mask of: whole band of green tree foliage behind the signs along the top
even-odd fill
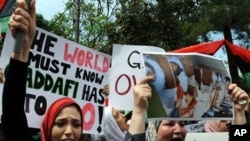
[[[109,54],[115,43],[174,50],[197,44],[198,36],[208,41],[211,30],[249,32],[249,6],[249,0],[69,0],[45,29],[76,41],[79,21],[79,43]]]

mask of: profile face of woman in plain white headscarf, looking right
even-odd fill
[[[112,115],[117,123],[117,125],[119,126],[119,128],[121,129],[121,131],[127,131],[129,128],[129,125],[126,122],[126,117],[124,114],[120,113],[117,109],[112,108]]]

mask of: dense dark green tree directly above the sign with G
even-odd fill
[[[153,45],[173,50],[182,45],[183,32],[178,17],[178,2],[119,0],[116,21],[108,29],[109,42]]]

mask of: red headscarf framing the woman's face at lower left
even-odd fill
[[[51,128],[54,124],[54,121],[58,115],[58,113],[65,107],[75,105],[77,109],[81,112],[81,108],[79,105],[69,97],[63,97],[51,104],[49,109],[47,110],[42,125],[41,125],[41,141],[49,141],[51,137]],[[81,114],[81,122],[83,123],[83,117]],[[81,126],[83,127],[83,126]]]

